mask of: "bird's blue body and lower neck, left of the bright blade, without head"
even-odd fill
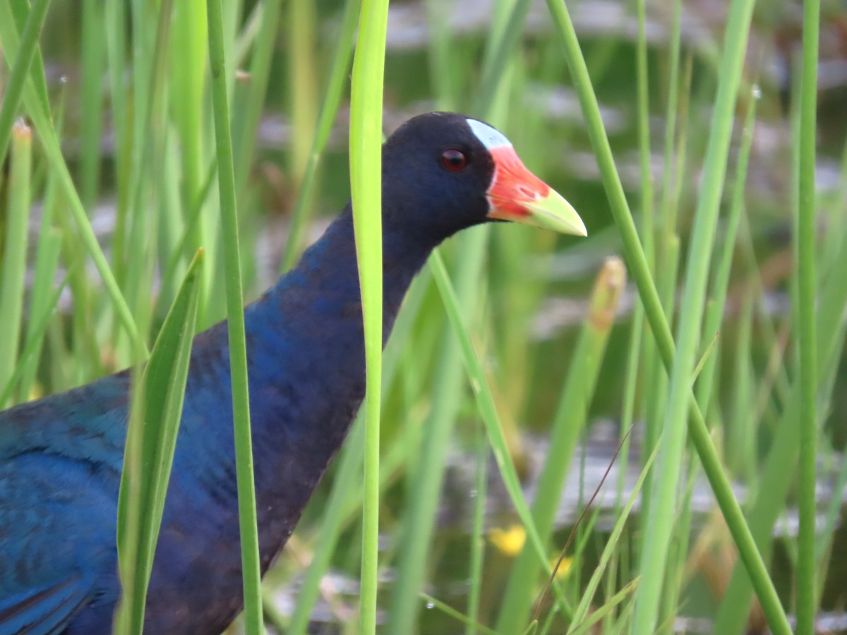
[[[364,390],[349,218],[246,309],[263,571],[291,535]],[[335,237],[340,245],[328,248]],[[312,262],[312,264],[309,264]],[[399,301],[392,306],[399,306]],[[199,334],[147,594],[145,632],[221,632],[241,610],[226,323]],[[119,599],[116,517],[130,374],[0,412],[0,635],[97,635]],[[29,627],[30,630],[25,630]]]

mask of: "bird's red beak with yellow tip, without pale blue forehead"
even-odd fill
[[[571,204],[550,185],[532,174],[512,146],[490,149],[494,179],[485,192],[488,218],[553,229],[562,234],[587,236],[588,231]]]

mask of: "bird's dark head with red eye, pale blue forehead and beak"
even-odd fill
[[[587,235],[570,203],[479,119],[457,113],[409,119],[385,142],[382,169],[384,223],[431,235],[436,243],[491,220]]]

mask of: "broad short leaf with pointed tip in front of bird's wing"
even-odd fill
[[[197,252],[136,384],[118,498],[118,554],[124,596],[117,632],[141,633],[147,585],[162,524],[197,321],[203,254]]]

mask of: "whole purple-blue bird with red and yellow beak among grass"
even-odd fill
[[[490,124],[409,119],[382,147],[384,334],[430,252],[517,221],[586,235]],[[244,311],[262,573],[363,400],[352,204]],[[385,344],[385,342],[384,342]],[[0,412],[0,635],[98,635],[120,597],[116,518],[130,373]],[[195,336],[144,632],[215,635],[242,607],[226,323]]]

